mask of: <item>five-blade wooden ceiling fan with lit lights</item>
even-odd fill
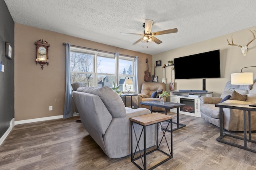
[[[122,34],[122,35],[143,35],[142,38],[138,39],[138,41],[136,41],[133,44],[137,44],[140,41],[142,43],[155,42],[157,44],[160,44],[160,43],[162,43],[162,41],[157,39],[154,36],[178,32],[177,28],[173,28],[173,29],[167,29],[167,30],[151,33],[152,25],[153,25],[153,20],[145,20],[145,23],[142,24],[142,26],[145,28],[144,34],[137,34],[137,33],[120,33],[120,34]]]

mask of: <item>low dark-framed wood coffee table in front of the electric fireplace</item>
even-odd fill
[[[174,124],[177,124],[177,127],[172,129],[172,131],[176,131],[176,130],[186,126],[186,125],[180,123],[180,113],[179,113],[179,107],[186,106],[186,104],[172,103],[172,102],[164,102],[164,104],[161,104],[160,101],[158,101],[158,100],[140,102],[140,104],[150,106],[151,113],[152,113],[152,106],[164,108],[164,114],[167,114],[167,109],[170,110],[173,108],[177,108],[177,122],[172,122]]]

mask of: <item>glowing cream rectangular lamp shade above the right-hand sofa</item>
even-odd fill
[[[231,84],[253,84],[253,72],[232,73]]]

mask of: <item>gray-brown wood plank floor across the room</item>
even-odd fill
[[[168,114],[175,121],[176,114]],[[78,118],[15,125],[0,146],[0,170],[138,169],[130,156],[102,153],[82,123],[75,123]],[[216,141],[218,127],[188,115],[180,115],[180,123],[187,126],[173,133],[173,158],[156,170],[256,169],[256,153]]]

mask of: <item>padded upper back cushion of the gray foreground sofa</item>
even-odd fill
[[[112,88],[104,87],[79,87],[78,92],[95,94],[100,97],[113,118],[125,117],[126,109],[122,98]]]

